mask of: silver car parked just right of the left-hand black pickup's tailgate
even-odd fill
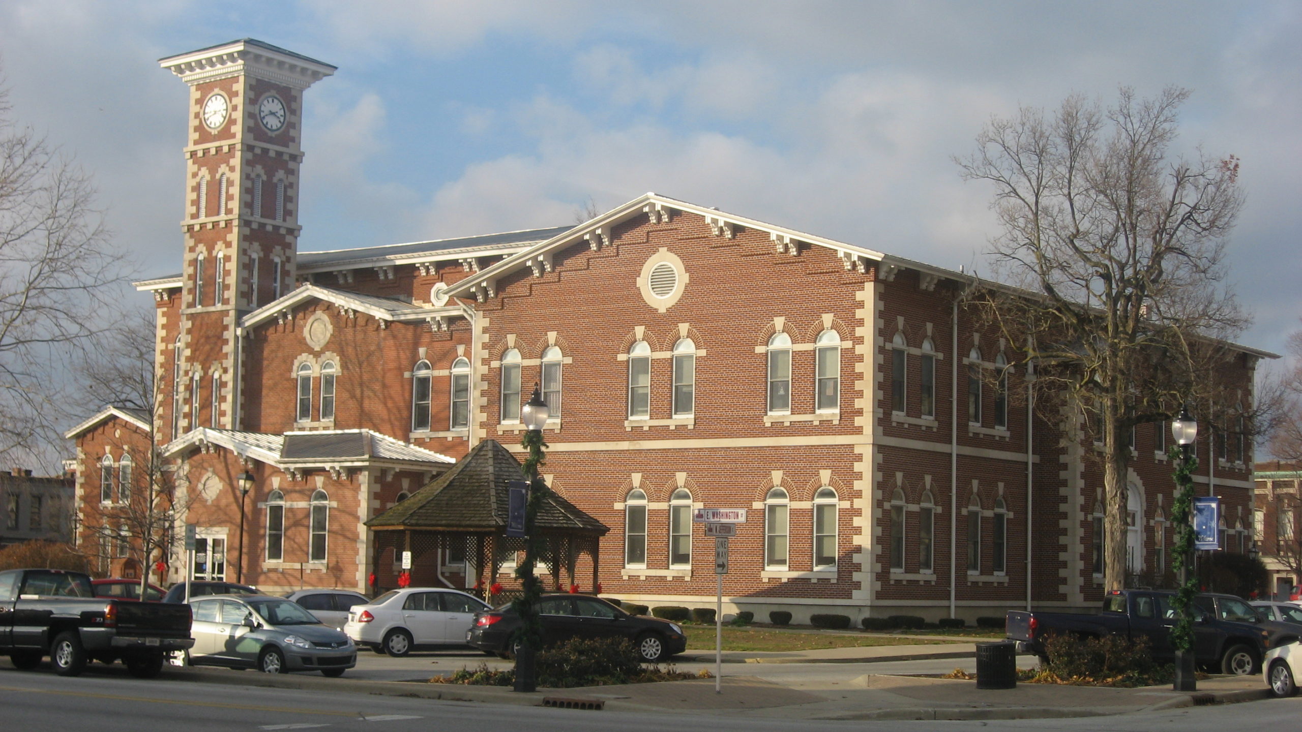
[[[270,595],[204,595],[194,610],[193,666],[256,668],[267,673],[320,671],[342,676],[357,666],[357,646],[311,612]]]

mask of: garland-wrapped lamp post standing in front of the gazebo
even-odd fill
[[[525,425],[525,436],[521,444],[529,449],[525,458],[525,475],[529,478],[529,500],[525,503],[525,563],[516,568],[516,577],[523,586],[523,594],[512,603],[519,615],[518,646],[516,650],[516,686],[517,692],[538,690],[538,673],[534,668],[534,655],[543,641],[543,626],[538,619],[538,600],[543,591],[534,576],[534,561],[538,559],[534,524],[538,520],[538,508],[542,504],[547,486],[538,477],[538,468],[543,464],[543,427],[547,426],[547,417],[551,409],[543,401],[542,391],[534,384],[534,393],[519,409],[519,421]]]

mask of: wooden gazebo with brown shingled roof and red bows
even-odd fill
[[[496,440],[480,442],[450,470],[366,522],[375,535],[371,567],[376,577],[381,576],[380,563],[388,550],[395,557],[410,551],[417,584],[426,578],[432,580],[430,584],[456,584],[443,574],[443,565],[449,555],[460,555],[464,587],[487,599],[503,565],[514,564],[525,551],[523,538],[506,535],[506,509],[508,483],[526,479],[510,451]],[[535,531],[540,539],[538,561],[547,567],[555,586],[561,586],[562,569],[566,585],[575,584],[575,567],[586,554],[592,561],[591,591],[596,590],[600,539],[609,531],[604,524],[548,491]],[[430,552],[437,552],[434,561],[428,560]],[[419,577],[422,573],[427,577]]]

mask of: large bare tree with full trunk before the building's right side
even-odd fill
[[[1022,108],[991,120],[976,151],[956,159],[965,180],[993,185],[1003,232],[991,254],[1023,288],[983,288],[974,301],[1035,362],[1038,391],[1087,417],[1101,443],[1108,590],[1126,577],[1133,427],[1185,402],[1208,417],[1225,388],[1220,339],[1247,320],[1224,287],[1238,160],[1172,154],[1187,96],[1121,89],[1107,109],[1079,95],[1052,116]]]

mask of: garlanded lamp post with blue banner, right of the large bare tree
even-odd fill
[[[1178,613],[1176,625],[1170,629],[1170,645],[1176,649],[1176,681],[1173,689],[1177,692],[1198,690],[1198,681],[1194,677],[1194,624],[1190,607],[1194,602],[1197,577],[1191,577],[1189,568],[1194,560],[1194,528],[1191,511],[1194,504],[1194,479],[1191,473],[1198,468],[1198,458],[1189,455],[1190,445],[1198,439],[1198,422],[1189,415],[1189,409],[1181,409],[1180,417],[1170,423],[1170,434],[1180,445],[1178,461],[1176,462],[1176,500],[1172,501],[1172,518],[1176,522],[1176,574],[1180,578],[1180,587],[1172,602],[1172,607]]]

